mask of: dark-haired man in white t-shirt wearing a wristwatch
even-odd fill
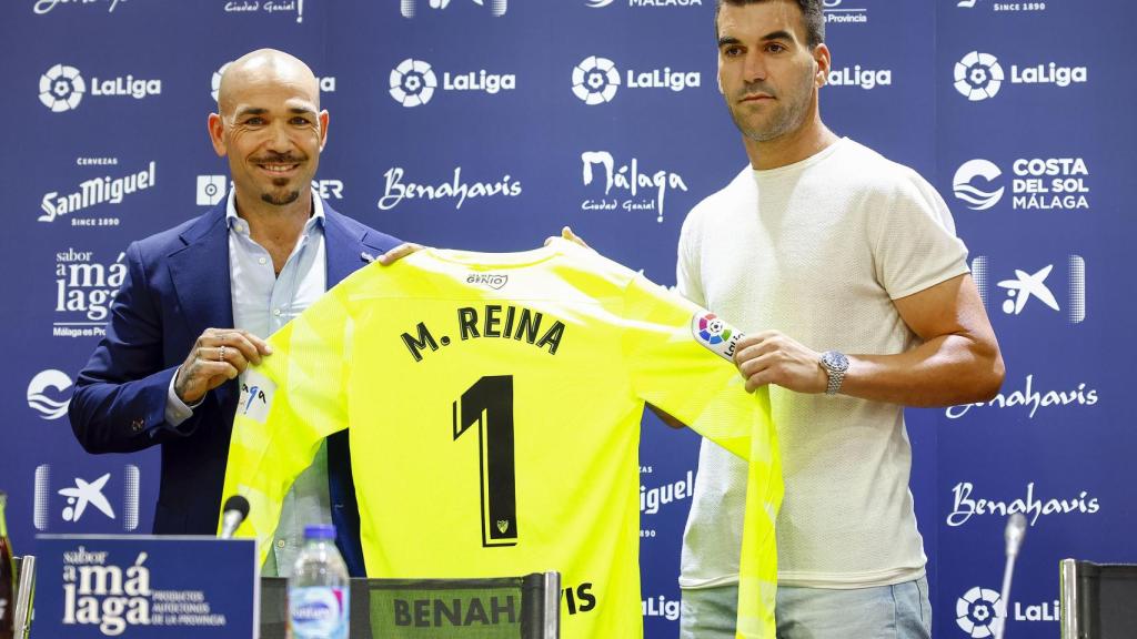
[[[984,401],[1003,360],[944,200],[821,122],[821,0],[720,0],[719,84],[750,165],[683,224],[680,290],[746,331],[786,498],[778,637],[929,637],[904,406]],[[682,636],[735,636],[745,462],[704,440]]]

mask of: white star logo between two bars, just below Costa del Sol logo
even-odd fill
[[[990,259],[986,256],[978,256],[971,262],[971,271],[976,279],[976,288],[979,289],[979,297],[984,300],[984,306],[990,308],[988,298],[990,282]],[[1062,304],[1054,294],[1052,287],[1047,284],[1047,279],[1054,271],[1054,264],[1047,264],[1036,271],[1014,269],[1014,277],[999,280],[996,287],[1005,292],[999,308],[1005,315],[1018,317],[1027,309],[1046,307],[1053,312],[1062,313]],[[1080,324],[1086,318],[1086,260],[1079,255],[1070,255],[1067,259],[1065,280],[1065,315],[1071,324]],[[1060,289],[1061,291],[1061,289]],[[1037,300],[1034,304],[1031,300]]]

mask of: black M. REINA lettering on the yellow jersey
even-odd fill
[[[456,318],[457,335],[462,341],[478,338],[514,339],[548,349],[549,355],[557,354],[565,333],[565,325],[559,320],[550,320],[541,313],[520,306],[488,304],[480,309],[464,306],[457,309]],[[417,335],[402,333],[402,343],[415,362],[422,362],[428,348],[435,351],[439,345],[450,346],[454,341],[450,338],[454,333],[435,338],[423,322],[415,326],[415,331]]]

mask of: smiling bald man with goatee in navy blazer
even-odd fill
[[[107,335],[80,373],[68,416],[89,453],[161,446],[156,534],[214,534],[238,375],[265,338],[397,240],[312,192],[327,111],[312,69],[269,49],[229,66],[208,119],[233,189],[225,202],[126,249]],[[252,396],[250,401],[256,401]],[[287,575],[305,524],[334,523],[363,575],[347,433],[293,487],[266,574]]]

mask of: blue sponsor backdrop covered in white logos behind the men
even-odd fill
[[[1010,508],[1031,526],[1009,632],[1055,637],[1060,558],[1137,558],[1135,349],[1110,339],[1132,323],[1137,132],[1132,74],[1107,53],[1137,8],[825,5],[825,121],[940,189],[1007,363],[996,401],[908,413],[936,633],[989,634]],[[155,451],[86,456],[59,415],[126,244],[224,193],[205,127],[222,65],[258,47],[310,64],[331,111],[317,188],[367,224],[481,250],[570,224],[670,284],[687,210],[746,161],[712,14],[712,0],[5,2],[0,488],[17,551],[39,531],[149,530]],[[648,421],[642,598],[647,636],[664,638],[697,440]]]

